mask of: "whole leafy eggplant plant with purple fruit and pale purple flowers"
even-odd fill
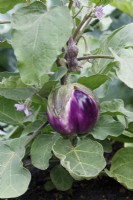
[[[109,30],[109,4],[131,23]],[[0,0],[0,48],[14,55],[0,72],[1,199],[27,191],[31,167],[47,170],[46,190],[101,175],[133,190],[132,9],[131,0]]]

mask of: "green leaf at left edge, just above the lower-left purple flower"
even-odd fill
[[[2,73],[3,74],[3,73]],[[9,73],[10,74],[10,73]],[[0,82],[0,95],[13,100],[25,100],[35,93],[33,88],[22,83],[19,76],[3,78]]]

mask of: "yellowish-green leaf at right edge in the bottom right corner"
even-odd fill
[[[133,190],[133,148],[119,150],[112,159],[112,166],[108,172],[126,188]]]

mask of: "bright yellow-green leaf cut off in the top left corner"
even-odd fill
[[[25,3],[25,0],[0,0],[0,13],[5,13],[18,3]]]

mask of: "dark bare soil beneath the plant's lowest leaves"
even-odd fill
[[[121,144],[113,146],[114,154]],[[110,158],[106,156],[109,161]],[[111,156],[112,157],[112,156]],[[133,200],[133,191],[129,191],[117,181],[109,177],[98,177],[89,181],[74,182],[71,190],[61,192],[45,191],[44,184],[47,179],[45,171],[31,168],[32,181],[28,191],[21,197],[11,200]]]

